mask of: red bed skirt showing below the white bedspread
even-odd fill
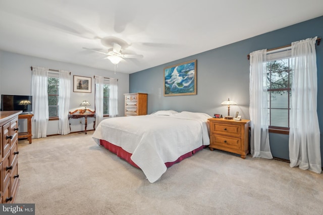
[[[126,152],[125,150],[123,150],[121,147],[118,147],[116,145],[111,144],[110,142],[100,139],[100,145],[102,145],[105,149],[109,150],[112,153],[115,153],[118,157],[126,160],[129,164],[131,164],[134,167],[139,168],[132,160],[131,160],[131,153]],[[198,151],[202,150],[204,147],[206,146],[200,146],[199,148],[193,150],[192,152],[186,153],[185,155],[182,155],[181,157],[179,157],[176,161],[174,162],[167,162],[165,163],[166,167],[171,167],[173,164],[176,164],[182,160],[184,160],[185,158],[189,158],[192,155],[194,155],[195,153],[197,153]],[[140,169],[140,168],[139,168]]]

